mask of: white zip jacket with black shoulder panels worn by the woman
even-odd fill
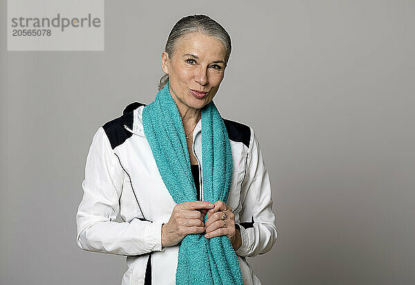
[[[76,241],[84,250],[127,256],[122,285],[175,284],[178,244],[162,248],[161,225],[169,221],[176,203],[144,134],[144,106],[129,104],[122,116],[95,132],[76,214]],[[243,284],[261,284],[246,257],[268,252],[277,239],[270,179],[252,128],[223,120],[234,166],[227,204],[241,229],[242,245],[236,253]],[[201,120],[194,128],[193,152],[203,173]],[[123,222],[114,222],[118,213]]]

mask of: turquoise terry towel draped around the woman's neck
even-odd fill
[[[206,202],[228,201],[232,153],[223,119],[213,101],[203,106],[202,170]],[[195,201],[185,130],[169,83],[142,110],[142,124],[158,171],[177,204]],[[154,205],[156,206],[156,205]],[[207,218],[205,217],[205,222]],[[226,235],[187,235],[178,249],[176,284],[242,284],[241,268]]]

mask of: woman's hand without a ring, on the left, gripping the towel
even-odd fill
[[[174,206],[169,222],[161,226],[161,245],[173,246],[190,233],[204,233],[203,215],[212,208],[213,203],[201,201],[183,202]]]

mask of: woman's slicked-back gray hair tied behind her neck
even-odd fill
[[[232,50],[230,36],[218,22],[204,14],[194,14],[183,17],[174,25],[170,31],[169,37],[167,38],[165,46],[165,52],[169,55],[169,59],[172,59],[178,39],[189,34],[190,32],[202,32],[205,35],[221,40],[225,46],[225,63],[228,63],[230,52]],[[158,83],[158,90],[163,89],[168,81],[169,75],[163,75]]]

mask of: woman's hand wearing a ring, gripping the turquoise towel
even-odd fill
[[[222,219],[223,213],[225,213],[225,219]],[[223,201],[216,201],[214,202],[214,208],[208,210],[206,217],[208,217],[205,224],[206,238],[210,239],[219,235],[227,235],[234,250],[241,246],[241,233],[239,229],[235,229],[235,215],[232,213],[230,206]]]

